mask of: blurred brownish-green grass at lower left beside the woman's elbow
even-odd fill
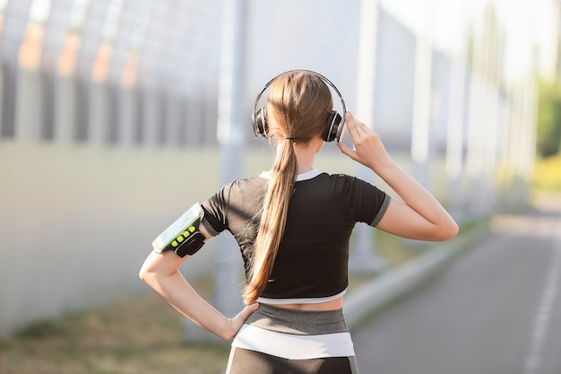
[[[0,342],[2,374],[218,374],[229,343],[186,343],[182,317],[154,292],[26,326]]]

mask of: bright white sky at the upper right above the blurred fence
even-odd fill
[[[539,68],[550,53],[551,4],[559,0],[379,0],[384,9],[410,30],[432,35],[436,48],[451,52],[464,47],[470,22],[479,29],[485,5],[494,3],[506,33],[505,75],[527,74],[531,69],[534,45],[539,45]],[[426,17],[424,19],[424,17]]]

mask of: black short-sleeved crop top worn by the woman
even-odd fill
[[[268,176],[235,180],[202,204],[203,225],[211,235],[229,230],[236,238],[246,275]],[[299,175],[262,297],[325,298],[345,291],[351,230],[356,222],[375,226],[389,202],[384,191],[358,178],[318,170]]]

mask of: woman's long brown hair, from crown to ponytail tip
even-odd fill
[[[332,95],[327,84],[316,74],[292,71],[281,74],[271,84],[266,114],[269,135],[277,145],[272,178],[263,199],[263,213],[243,299],[257,300],[272,273],[289,210],[290,196],[298,173],[294,146],[307,144],[322,135],[332,109]]]

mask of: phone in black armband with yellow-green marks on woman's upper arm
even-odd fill
[[[204,244],[204,235],[199,230],[203,215],[201,204],[194,204],[152,241],[154,251],[162,253],[172,250],[179,257],[194,255]]]

